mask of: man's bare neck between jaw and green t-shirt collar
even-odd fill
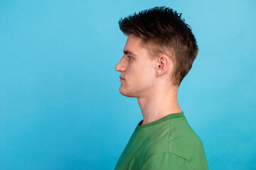
[[[138,97],[139,107],[144,118],[142,125],[159,120],[171,113],[180,113],[177,92],[178,89],[169,88],[154,91],[149,96]]]

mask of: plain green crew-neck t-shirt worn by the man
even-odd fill
[[[139,122],[115,170],[206,170],[203,143],[183,112],[151,123]]]

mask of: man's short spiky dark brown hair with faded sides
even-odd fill
[[[196,38],[181,13],[156,6],[121,18],[119,28],[125,35],[142,38],[152,58],[161,53],[168,55],[174,62],[173,84],[181,84],[198,54]]]

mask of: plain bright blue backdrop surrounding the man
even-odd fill
[[[170,6],[199,46],[178,90],[209,169],[256,169],[255,1],[0,1],[0,169],[114,169],[142,120],[119,18]]]

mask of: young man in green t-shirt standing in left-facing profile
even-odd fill
[[[208,169],[203,144],[178,106],[177,91],[198,53],[191,28],[165,6],[120,19],[127,35],[119,92],[136,97],[143,120],[115,169]]]

